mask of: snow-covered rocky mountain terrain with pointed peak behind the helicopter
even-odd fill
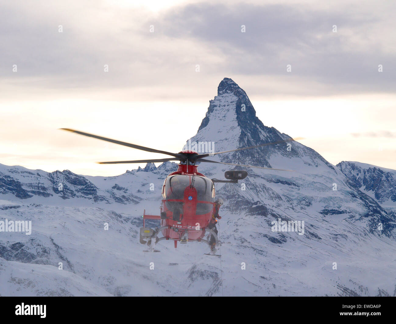
[[[263,125],[245,91],[225,78],[187,143],[210,142],[220,152],[288,139]],[[209,158],[295,170],[200,164],[209,178],[223,179],[230,169],[249,174],[238,184],[215,184],[225,201],[221,259],[202,256],[208,247],[199,243],[174,249],[162,241],[160,253],[143,252],[143,210],[158,213],[162,183],[175,163],[113,177],[0,165],[0,221],[32,221],[31,235],[0,232],[0,294],[396,295],[389,276],[396,265],[396,171],[334,166],[294,141]],[[304,221],[303,234],[272,231],[278,219]]]

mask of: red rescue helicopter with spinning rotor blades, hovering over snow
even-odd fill
[[[62,128],[65,131],[77,133],[84,136],[97,138],[114,144],[120,144],[138,150],[162,153],[170,155],[166,159],[148,159],[148,160],[135,160],[135,161],[112,161],[112,162],[99,162],[99,164],[118,164],[118,163],[155,163],[166,161],[179,161],[177,171],[169,174],[162,186],[162,203],[160,207],[160,215],[148,215],[143,212],[143,227],[140,229],[140,243],[147,244],[150,251],[157,251],[154,249],[156,243],[162,240],[172,240],[175,248],[177,242],[187,243],[191,241],[204,242],[209,245],[209,241],[204,239],[205,235],[213,235],[215,239],[215,249],[211,250],[211,254],[220,247],[221,242],[216,233],[208,228],[211,221],[212,214],[215,207],[215,182],[237,183],[238,180],[246,178],[246,171],[226,171],[225,178],[227,180],[209,179],[204,174],[198,172],[196,165],[197,162],[219,163],[225,165],[233,165],[237,167],[270,169],[278,171],[292,171],[284,169],[274,169],[267,167],[258,167],[252,165],[241,165],[234,163],[225,163],[205,159],[205,157],[217,155],[221,153],[229,153],[240,150],[247,150],[252,148],[259,148],[272,144],[280,144],[284,142],[291,142],[294,139],[281,140],[277,142],[270,142],[256,146],[249,146],[245,148],[237,148],[217,153],[203,153],[198,154],[191,150],[183,150],[179,153],[171,153],[153,148],[147,148],[131,143],[112,140],[110,138],[97,136],[89,133],[76,131],[74,129]],[[160,226],[156,229],[151,229],[145,226],[145,220],[160,220]],[[162,233],[162,237],[158,237]]]

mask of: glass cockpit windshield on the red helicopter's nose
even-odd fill
[[[166,200],[166,205],[170,210],[177,209],[179,212],[183,210],[184,191],[186,188],[195,188],[197,191],[197,200],[206,201],[208,203],[197,203],[196,214],[207,214],[213,208],[213,199],[215,197],[215,189],[213,182],[203,176],[189,176],[175,174],[169,176],[165,180],[165,188],[163,199]],[[181,200],[180,202],[167,201],[168,199]]]

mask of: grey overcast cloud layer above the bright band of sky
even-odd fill
[[[200,64],[206,78],[270,77],[305,95],[393,92],[396,86],[393,2],[375,6],[374,2],[360,6],[334,2],[330,8],[320,3],[203,2],[159,13],[109,2],[92,4],[3,3],[3,85],[76,93],[80,89],[186,88],[204,81],[191,76]],[[337,32],[332,31],[333,25]],[[13,64],[17,73],[12,72]],[[109,73],[103,72],[104,64],[109,65]],[[287,64],[291,64],[290,73]],[[285,88],[276,89],[284,93]]]

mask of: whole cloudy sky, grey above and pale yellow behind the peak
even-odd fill
[[[178,152],[228,77],[329,162],[396,169],[395,14],[393,0],[1,0],[0,163],[123,173],[135,166],[94,162],[164,156],[57,129]]]

